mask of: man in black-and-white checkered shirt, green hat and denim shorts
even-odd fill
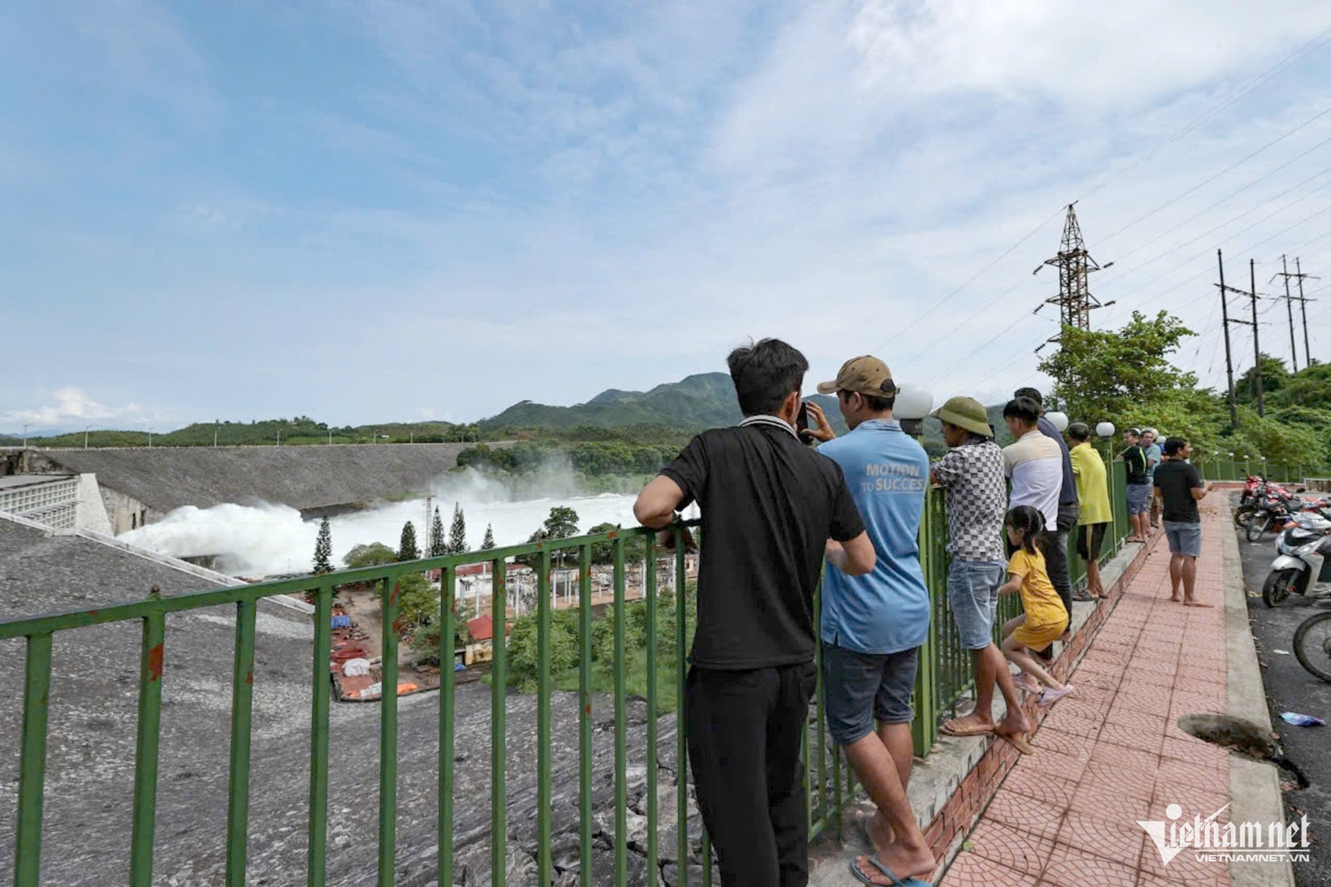
[[[1029,754],[1030,721],[1021,710],[1017,688],[1002,652],[993,641],[998,589],[1006,578],[1002,521],[1008,511],[1008,481],[1002,451],[993,440],[984,404],[952,398],[933,414],[942,422],[948,452],[933,464],[933,483],[948,492],[948,605],[961,644],[970,650],[976,673],[976,707],[942,725],[949,735],[996,733]],[[1008,702],[1001,723],[993,719],[994,685]]]

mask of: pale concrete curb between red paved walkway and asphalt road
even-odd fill
[[[1226,503],[1226,517],[1233,508]],[[1234,521],[1223,524],[1225,576],[1225,648],[1229,664],[1229,699],[1226,711],[1231,717],[1252,721],[1271,731],[1271,715],[1266,705],[1266,686],[1258,665],[1252,626],[1248,625],[1247,590],[1243,582],[1243,561]],[[1280,771],[1272,763],[1230,755],[1230,821],[1284,823],[1284,798],[1280,794]],[[1294,866],[1288,859],[1279,863],[1230,862],[1233,887],[1294,887]]]

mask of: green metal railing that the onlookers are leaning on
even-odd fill
[[[1114,525],[1103,557],[1111,557],[1119,548],[1127,517],[1123,495],[1122,464],[1113,465]],[[921,650],[920,677],[916,685],[917,718],[914,723],[914,745],[917,754],[928,754],[937,737],[940,718],[954,710],[957,702],[968,692],[970,676],[970,656],[962,649],[946,602],[946,515],[942,496],[930,492],[926,499],[924,520],[920,528],[921,565],[933,597],[934,610],[929,637]],[[128,882],[132,887],[148,887],[153,876],[153,847],[157,803],[157,767],[160,759],[160,737],[162,719],[162,684],[170,680],[164,674],[164,653],[170,637],[166,632],[166,617],[173,613],[200,610],[205,608],[236,608],[236,644],[232,669],[232,731],[229,758],[229,793],[226,814],[226,880],[228,886],[242,886],[246,874],[246,851],[249,840],[249,778],[250,739],[254,699],[254,638],[257,604],[260,598],[298,592],[313,593],[314,601],[314,649],[311,660],[313,696],[310,702],[310,773],[309,773],[309,831],[307,831],[307,883],[325,883],[327,855],[327,807],[329,807],[329,715],[331,686],[329,680],[329,660],[331,654],[331,616],[334,589],[353,584],[378,584],[382,605],[382,696],[379,698],[379,834],[378,834],[378,883],[389,887],[394,883],[394,855],[397,848],[397,787],[398,787],[398,580],[410,573],[438,569],[441,573],[441,600],[438,610],[441,686],[438,693],[438,871],[442,884],[451,883],[454,860],[454,701],[455,678],[451,669],[454,661],[454,634],[457,628],[458,568],[467,564],[488,563],[491,568],[491,616],[494,618],[492,664],[491,664],[491,878],[492,883],[504,883],[507,848],[507,747],[506,711],[508,685],[508,652],[504,626],[508,622],[507,577],[508,563],[515,557],[534,561],[536,574],[536,868],[540,883],[551,883],[551,699],[554,676],[551,674],[551,621],[554,604],[551,600],[551,561],[558,552],[563,561],[576,552],[579,565],[579,722],[578,722],[578,785],[579,785],[579,883],[591,884],[594,848],[594,809],[592,809],[592,547],[612,545],[614,602],[611,620],[614,630],[614,880],[627,884],[628,879],[628,717],[627,717],[627,669],[626,656],[626,556],[632,545],[632,556],[646,556],[644,564],[659,564],[660,559],[671,560],[673,568],[673,648],[676,668],[677,729],[675,733],[677,813],[676,859],[687,860],[688,839],[688,790],[687,790],[687,735],[688,725],[684,717],[685,650],[688,645],[685,553],[681,544],[684,525],[671,531],[675,545],[673,556],[664,552],[655,540],[655,533],[643,528],[612,531],[575,539],[514,545],[508,548],[434,557],[409,564],[393,564],[365,569],[327,573],[317,577],[303,577],[236,588],[212,589],[180,594],[176,597],[153,596],[146,600],[114,604],[92,610],[15,618],[0,621],[0,640],[25,638],[27,661],[23,696],[23,733],[20,751],[20,779],[17,797],[17,828],[15,855],[15,884],[35,887],[40,882],[43,795],[47,766],[47,723],[49,690],[52,678],[52,638],[57,632],[105,625],[110,622],[138,621],[142,626],[138,678],[138,719],[136,742],[136,769],[132,802],[132,835]],[[1075,557],[1070,561],[1077,565]],[[1075,573],[1078,580],[1082,573]],[[656,569],[644,570],[646,600],[646,707],[644,751],[647,775],[646,813],[647,840],[646,855],[648,868],[654,871],[659,846],[656,827],[662,798],[658,789],[658,696],[656,666],[662,638],[658,630]],[[820,600],[815,596],[815,624],[817,624]],[[1016,596],[1005,598],[1000,614],[1010,618],[1020,612]],[[1001,625],[1001,621],[1000,621]],[[997,626],[996,626],[997,629]],[[821,650],[819,652],[821,656]],[[853,793],[853,775],[844,757],[833,742],[828,741],[824,729],[821,669],[819,670],[819,693],[811,710],[809,729],[805,735],[805,789],[808,793],[808,813],[811,836],[827,828],[840,832],[844,801]],[[712,880],[711,851],[705,832],[701,840],[703,884]],[[679,883],[688,883],[688,866],[679,866]]]

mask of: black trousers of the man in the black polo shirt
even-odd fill
[[[688,672],[688,761],[724,887],[809,880],[800,742],[816,680],[813,662]]]

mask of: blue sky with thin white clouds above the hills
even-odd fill
[[[1095,323],[1217,382],[1217,246],[1331,279],[1331,7],[1074,5],[8,4],[0,431],[470,420],[763,335],[998,400],[1078,198]]]

